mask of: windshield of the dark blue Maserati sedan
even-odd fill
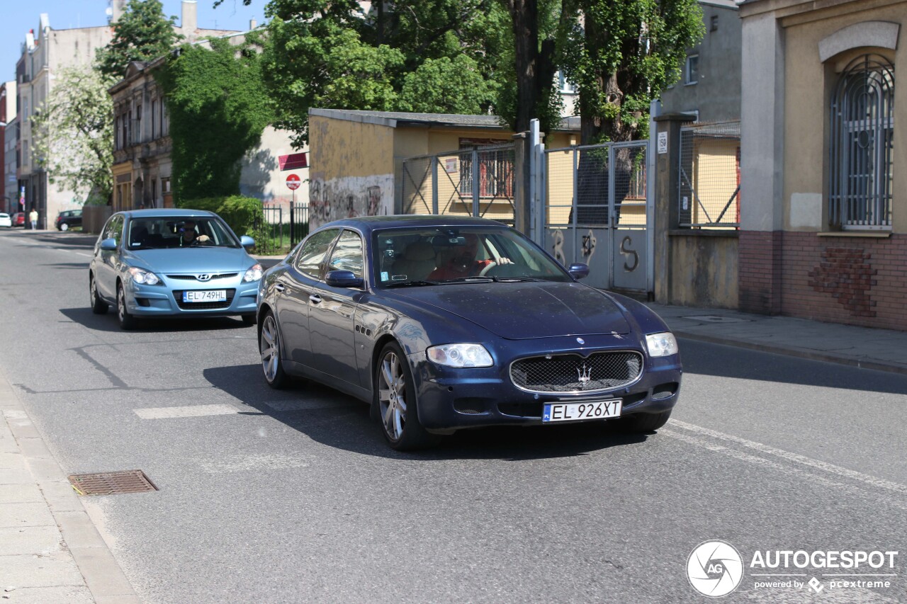
[[[513,280],[571,281],[557,262],[514,229],[440,227],[376,231],[378,287]]]

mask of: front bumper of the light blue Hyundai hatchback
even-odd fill
[[[177,280],[164,277],[158,285],[138,284],[126,279],[126,308],[134,317],[229,317],[254,315],[258,281],[238,277],[209,282]],[[180,304],[184,290],[224,289],[228,301],[218,304]]]

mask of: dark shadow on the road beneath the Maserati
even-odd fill
[[[251,414],[269,415],[317,443],[378,457],[425,462],[523,461],[585,455],[648,438],[646,434],[620,434],[613,424],[604,423],[494,427],[463,430],[430,451],[397,453],[385,443],[380,426],[369,418],[368,405],[332,388],[300,380],[286,390],[273,390],[265,383],[259,365],[212,367],[203,375],[211,385],[249,405]]]

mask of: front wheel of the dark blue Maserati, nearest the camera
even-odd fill
[[[413,375],[403,351],[395,342],[381,349],[375,365],[375,395],[381,431],[396,451],[433,447],[442,436],[427,432],[419,422]]]

